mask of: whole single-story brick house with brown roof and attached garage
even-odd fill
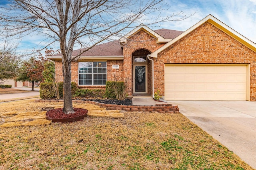
[[[49,59],[62,81],[61,55]],[[165,100],[256,101],[255,61],[256,44],[209,15],[184,32],[140,25],[96,45],[72,63],[72,81],[104,89],[108,80],[130,78],[132,96],[160,90]]]

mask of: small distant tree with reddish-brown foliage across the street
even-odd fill
[[[36,59],[34,56],[23,61],[16,80],[32,82],[32,91],[34,91],[34,83],[44,80],[42,72],[44,70],[45,61],[46,59],[42,56],[39,59]]]

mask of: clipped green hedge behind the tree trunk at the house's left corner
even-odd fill
[[[58,83],[59,86],[59,94],[60,98],[63,98],[63,82]],[[77,89],[76,83],[71,82],[71,92],[72,95],[75,94]],[[54,83],[40,83],[40,98],[42,99],[54,99],[55,96],[55,90],[54,90]]]

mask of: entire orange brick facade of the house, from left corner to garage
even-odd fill
[[[124,81],[127,78],[129,93],[133,92],[133,56],[148,55],[161,44],[145,31],[140,30],[123,45],[123,61],[107,61],[107,80]],[[250,64],[250,100],[256,101],[256,53],[248,49],[214,25],[206,22],[192,31],[154,59],[154,91],[164,95],[164,64]],[[112,65],[118,64],[119,69]],[[62,63],[55,61],[58,81],[62,78]],[[78,84],[78,63],[72,63],[72,81]],[[80,86],[80,88],[102,88],[105,86]],[[152,62],[148,60],[148,94],[152,94]]]

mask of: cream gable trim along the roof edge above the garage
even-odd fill
[[[160,47],[159,49],[157,49],[156,51],[151,53],[150,57],[157,58],[158,53],[160,53],[164,49],[168,48],[170,45],[174,44],[178,40],[182,39],[183,37],[188,35],[190,32],[194,31],[200,25],[202,25],[206,22],[211,23],[212,25],[214,25],[218,29],[222,30],[224,33],[228,34],[230,37],[236,39],[237,41],[239,41],[240,43],[242,43],[243,45],[245,45],[246,47],[248,47],[252,51],[256,52],[256,44],[254,42],[250,41],[249,39],[247,39],[246,37],[244,37],[240,33],[236,32],[234,29],[230,28],[228,25],[226,25],[223,22],[221,22],[220,20],[216,19],[214,16],[208,15],[206,18],[199,21],[198,23],[196,23],[195,25],[190,27],[188,30],[184,31],[183,33],[181,33],[180,35],[178,35],[177,37],[172,39],[172,41],[166,43],[165,45],[163,45],[162,47]]]

